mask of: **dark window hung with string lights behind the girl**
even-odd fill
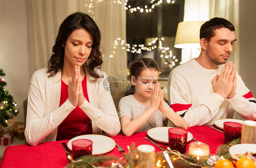
[[[174,48],[174,39],[178,23],[183,21],[184,0],[170,1],[163,0],[152,9],[158,0],[128,0],[128,68],[134,59],[149,57],[159,63],[159,78],[168,78],[170,71],[179,65],[181,49]],[[151,12],[148,11],[150,8]]]

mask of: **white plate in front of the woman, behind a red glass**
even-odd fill
[[[67,143],[70,150],[72,150],[72,142],[77,139],[90,139],[92,141],[92,155],[108,153],[116,146],[116,142],[112,138],[104,135],[88,134],[70,139]]]

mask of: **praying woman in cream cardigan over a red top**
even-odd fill
[[[71,139],[83,134],[116,136],[120,122],[107,75],[100,70],[101,34],[86,14],[69,15],[60,25],[48,68],[31,77],[26,119],[26,141]]]

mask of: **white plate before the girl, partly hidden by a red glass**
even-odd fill
[[[155,127],[148,130],[147,134],[150,138],[160,143],[168,143],[168,129],[173,127]],[[187,141],[189,142],[193,138],[192,133],[188,132]]]

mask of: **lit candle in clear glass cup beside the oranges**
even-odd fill
[[[189,144],[189,154],[197,157],[209,156],[209,145],[202,142],[192,142]]]

